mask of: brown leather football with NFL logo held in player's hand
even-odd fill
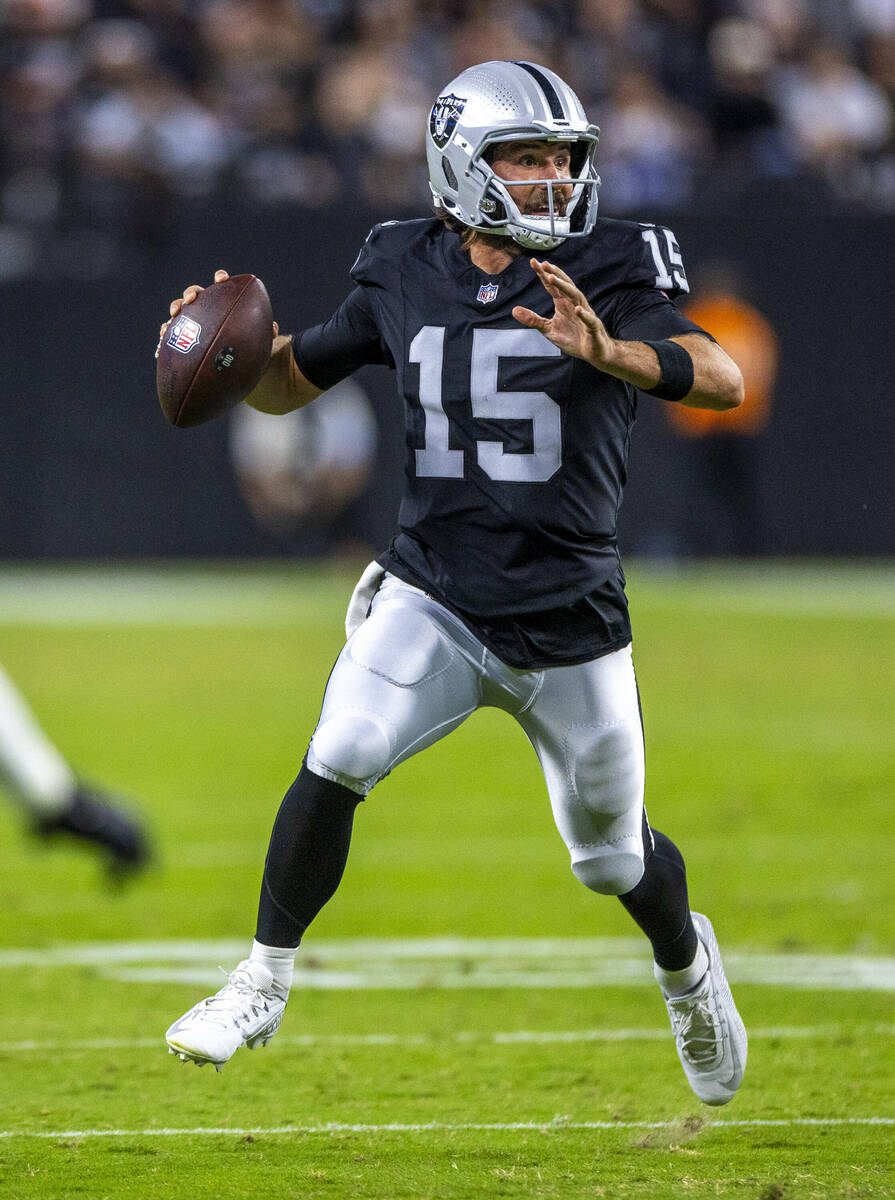
[[[221,416],[256,388],[270,361],[274,314],[254,275],[212,283],[185,305],[158,346],[158,403],[186,428]]]

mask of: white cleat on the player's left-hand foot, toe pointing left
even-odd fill
[[[193,1004],[164,1034],[170,1054],[217,1070],[240,1046],[266,1045],[280,1028],[288,991],[260,962],[245,959],[226,985]]]

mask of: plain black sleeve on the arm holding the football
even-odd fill
[[[379,335],[366,289],[354,288],[329,320],[293,338],[295,364],[316,388],[331,388],[360,367],[395,362]]]

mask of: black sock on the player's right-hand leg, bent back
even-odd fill
[[[696,958],[698,938],[690,916],[684,858],[671,840],[653,830],[655,847],[643,878],[619,900],[653,944],[665,971],[683,971]]]

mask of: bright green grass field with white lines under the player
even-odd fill
[[[274,1042],[169,1057],[251,940],[353,576],[6,569],[0,659],[158,863],[110,893],[0,820],[0,1196],[895,1196],[891,571],[630,576],[650,817],[751,1032],[731,1105],[494,712],[361,806]]]

